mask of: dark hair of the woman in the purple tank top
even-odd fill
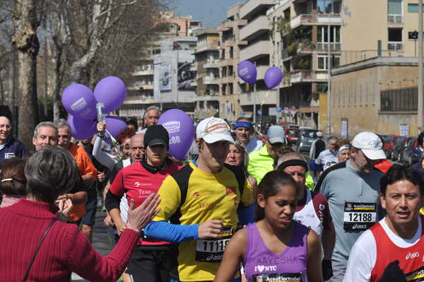
[[[257,196],[259,194],[264,195],[264,199],[269,199],[271,196],[275,196],[280,192],[280,189],[286,185],[291,185],[295,188],[296,194],[299,193],[298,184],[296,184],[293,177],[283,172],[283,170],[271,170],[266,173],[264,178],[262,178],[261,182],[258,185],[258,189],[255,193],[255,201],[254,201],[254,222],[261,221],[265,218],[265,210],[261,206],[259,206],[257,202]]]

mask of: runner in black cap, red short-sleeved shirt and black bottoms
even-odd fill
[[[128,201],[134,199],[138,206],[151,193],[158,192],[168,175],[179,170],[179,166],[167,158],[170,137],[162,125],[148,127],[143,143],[146,150],[143,160],[120,170],[106,194],[105,205],[117,227],[118,235],[121,235],[127,226],[119,211],[119,202],[124,193]],[[131,281],[170,281],[170,244],[148,239],[143,235],[141,238],[126,270]]]

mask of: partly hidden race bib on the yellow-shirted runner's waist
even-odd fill
[[[197,240],[196,262],[221,262],[232,231],[232,226],[227,226],[223,228],[219,239]]]

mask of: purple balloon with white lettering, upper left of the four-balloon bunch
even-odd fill
[[[82,84],[71,84],[62,94],[62,104],[66,112],[79,119],[95,119],[95,98],[93,92]]]

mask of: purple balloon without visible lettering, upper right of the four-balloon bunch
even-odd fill
[[[103,78],[94,88],[94,97],[105,105],[105,114],[117,110],[126,97],[124,81],[116,76]]]

